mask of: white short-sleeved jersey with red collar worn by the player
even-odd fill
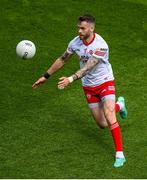
[[[109,63],[109,48],[105,40],[98,34],[94,34],[90,43],[86,43],[79,36],[70,41],[67,52],[74,52],[80,58],[82,68],[90,57],[98,58],[99,63],[82,78],[83,86],[98,86],[104,82],[114,80],[111,64]]]

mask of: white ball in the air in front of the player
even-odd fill
[[[36,53],[35,44],[29,40],[20,41],[16,46],[16,54],[22,59],[31,59]]]

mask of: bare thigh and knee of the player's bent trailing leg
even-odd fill
[[[90,111],[92,113],[94,120],[100,128],[105,128],[108,126],[102,105],[99,107],[90,108]]]

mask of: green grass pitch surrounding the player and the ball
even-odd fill
[[[77,35],[77,17],[96,17],[110,47],[117,96],[129,116],[121,121],[127,163],[113,168],[108,129],[92,119],[81,82],[61,91],[58,78],[79,69],[74,56],[42,87],[37,80]],[[17,43],[37,53],[19,59]],[[0,0],[0,178],[147,178],[146,0]]]

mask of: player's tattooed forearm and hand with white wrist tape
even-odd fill
[[[77,72],[75,72],[72,76],[70,77],[61,77],[58,83],[58,88],[59,89],[64,89],[64,87],[68,86],[71,82],[73,82],[74,80],[80,79],[83,76],[85,76],[94,66],[96,66],[99,63],[99,59],[98,58],[94,58],[92,57],[91,59],[89,59],[87,61],[87,63],[85,64],[85,66],[83,68],[81,68],[80,70],[78,70]]]

